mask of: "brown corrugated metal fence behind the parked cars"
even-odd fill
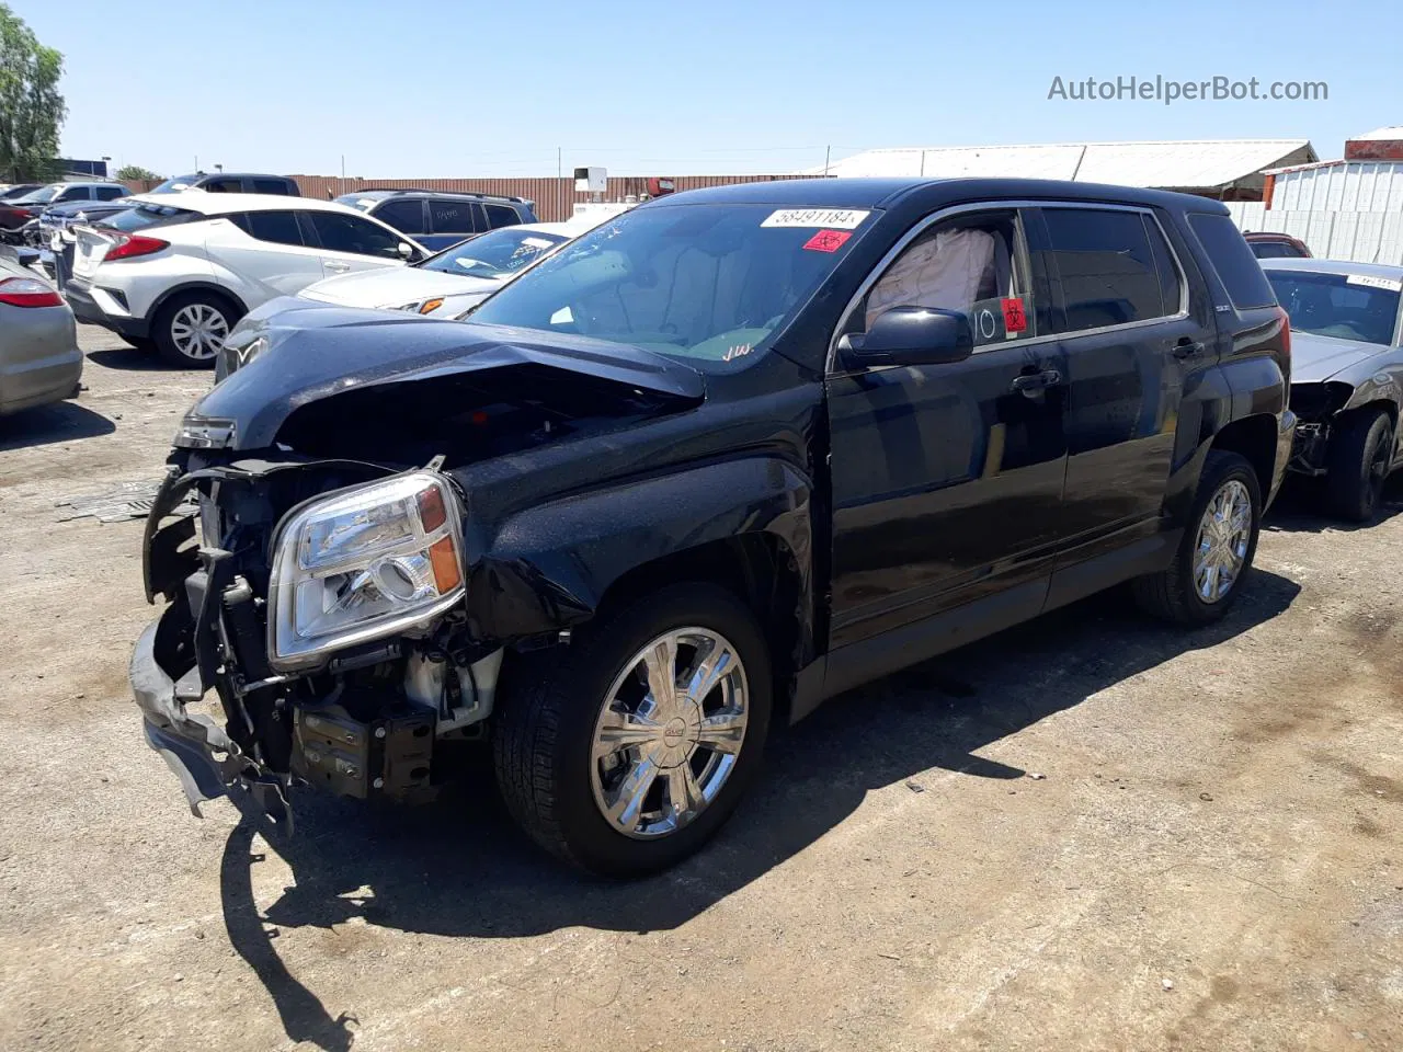
[[[509,178],[509,180],[341,180],[335,175],[293,175],[304,198],[338,198],[342,194],[377,187],[382,189],[442,189],[460,194],[501,194],[509,198],[526,198],[536,202],[536,216],[543,223],[558,223],[570,219],[577,201],[586,196],[575,194],[572,178]],[[703,189],[706,187],[728,187],[735,182],[772,182],[774,180],[822,178],[808,175],[680,175],[672,180],[678,192]],[[126,185],[136,192],[147,191],[156,181],[128,180]],[[605,201],[623,201],[629,195],[648,192],[648,180],[643,175],[615,175],[609,178]]]

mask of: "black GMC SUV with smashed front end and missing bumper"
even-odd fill
[[[1222,617],[1294,429],[1226,208],[1153,191],[680,194],[469,323],[230,335],[267,351],[181,425],[132,661],[192,805],[428,798],[481,736],[542,844],[669,865],[828,697],[1118,582]]]

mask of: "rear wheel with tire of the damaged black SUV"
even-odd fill
[[[1219,519],[1218,512],[1243,504],[1246,530],[1229,532],[1226,527],[1232,523]],[[1166,569],[1131,582],[1135,600],[1146,613],[1174,624],[1194,627],[1219,620],[1236,602],[1251,571],[1260,529],[1261,488],[1257,473],[1239,453],[1208,450],[1179,548]],[[1222,578],[1211,571],[1216,568],[1222,572],[1226,565],[1235,569],[1230,584],[1219,592]],[[1205,591],[1209,595],[1205,596]]]

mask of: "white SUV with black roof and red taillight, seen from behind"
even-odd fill
[[[130,201],[130,210],[77,227],[63,292],[80,321],[174,365],[212,367],[234,323],[276,296],[428,257],[394,227],[330,201],[203,191]]]

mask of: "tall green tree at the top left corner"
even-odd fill
[[[59,94],[63,56],[0,3],[0,178],[52,180],[59,126],[67,114]]]

